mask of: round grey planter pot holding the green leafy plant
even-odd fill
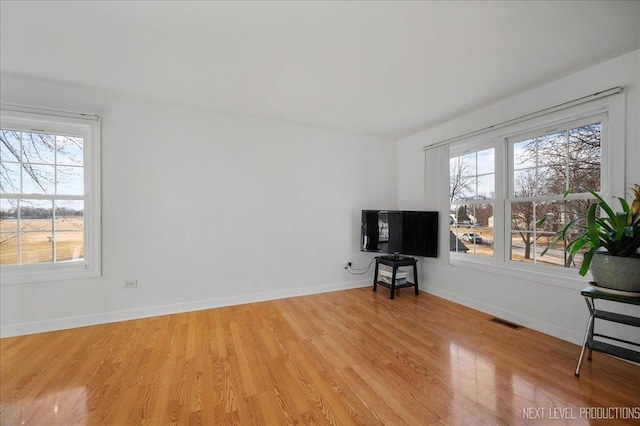
[[[640,292],[640,258],[596,253],[589,267],[598,287]]]

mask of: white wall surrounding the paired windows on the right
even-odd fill
[[[626,96],[626,147],[617,147],[626,149],[625,187],[640,183],[639,78],[640,50],[398,141],[398,208],[419,209],[430,204],[425,200],[425,181],[437,182],[439,178],[437,170],[433,174],[425,171],[423,147],[615,86],[624,87]],[[441,214],[446,217],[448,209]],[[446,229],[441,235],[447,236]],[[448,250],[448,238],[443,238],[441,248]],[[553,279],[536,274],[525,278],[500,273],[498,268],[453,266],[446,252],[439,261],[422,264],[423,290],[565,340],[582,341],[587,308],[579,290],[587,280],[577,274],[557,285]],[[635,308],[615,309],[640,314]],[[637,340],[637,329],[622,330],[622,334]]]

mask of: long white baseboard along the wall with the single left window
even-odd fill
[[[334,283],[312,287],[300,287],[275,292],[254,293],[243,296],[208,299],[197,302],[176,303],[171,305],[150,306],[140,309],[105,312],[93,315],[56,318],[46,321],[3,325],[0,327],[0,337],[14,337],[26,334],[44,333],[47,331],[66,330],[69,328],[86,327],[90,325],[107,324],[117,321],[128,321],[149,318],[160,315],[170,315],[182,312],[200,311],[203,309],[220,308],[223,306],[243,305],[245,303],[264,302],[267,300],[284,299],[287,297],[306,296],[310,294],[328,293],[331,291],[348,290],[367,287],[370,280]]]

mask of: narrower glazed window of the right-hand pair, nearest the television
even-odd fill
[[[494,256],[495,148],[449,159],[450,251]]]

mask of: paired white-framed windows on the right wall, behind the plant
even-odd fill
[[[557,232],[594,201],[587,188],[624,195],[623,95],[534,115],[446,144],[452,261],[573,276],[576,235]]]

